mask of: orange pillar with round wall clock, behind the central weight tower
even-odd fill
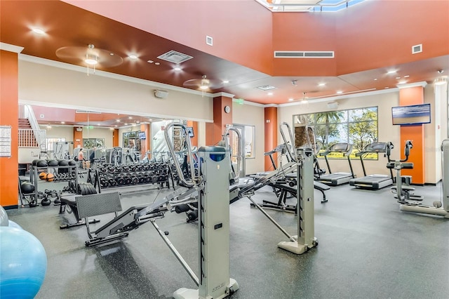
[[[225,112],[225,107],[231,110]],[[220,95],[213,98],[213,123],[206,123],[206,145],[215,145],[222,140],[227,124],[232,124],[232,98]]]

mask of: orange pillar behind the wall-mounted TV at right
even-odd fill
[[[399,90],[399,105],[422,103],[424,103],[424,86],[413,86]],[[411,140],[413,143],[413,149],[410,151],[410,157],[408,158],[408,162],[413,163],[413,169],[403,169],[401,175],[411,175],[413,184],[424,185],[424,125],[401,126],[401,149],[406,140]],[[401,152],[403,154],[403,150]]]

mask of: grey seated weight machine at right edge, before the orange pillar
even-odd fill
[[[404,163],[408,160],[408,156],[410,155],[410,149],[413,148],[413,144],[410,140],[406,140],[405,145],[405,159],[399,160],[389,160],[388,167],[396,170],[396,186],[391,187],[391,190],[397,194],[398,203],[400,204],[399,209],[401,211],[408,211],[414,213],[423,213],[423,214],[431,214],[431,215],[440,215],[444,218],[449,218],[449,139],[443,140],[441,143],[441,152],[442,152],[442,198],[440,201],[434,201],[433,206],[422,204],[420,201],[422,197],[415,197],[410,192],[414,191],[414,187],[410,187],[408,185],[403,185],[404,180],[406,182],[411,182],[410,177],[402,177],[401,169],[403,168],[413,168],[413,163]]]

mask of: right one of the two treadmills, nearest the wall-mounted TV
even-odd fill
[[[373,142],[369,145],[366,145],[366,147],[361,152],[358,152],[356,154],[356,157],[360,158],[363,175],[365,176],[363,176],[363,178],[353,178],[349,180],[349,185],[370,190],[379,190],[383,187],[393,185],[393,171],[391,171],[391,168],[390,175],[366,175],[365,164],[363,164],[363,157],[366,156],[366,154],[371,152],[379,154],[383,152],[385,155],[387,154],[387,147],[387,142]]]

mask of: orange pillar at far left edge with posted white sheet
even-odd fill
[[[0,205],[18,208],[18,53],[0,50],[0,126],[11,127],[11,157],[0,157]]]

